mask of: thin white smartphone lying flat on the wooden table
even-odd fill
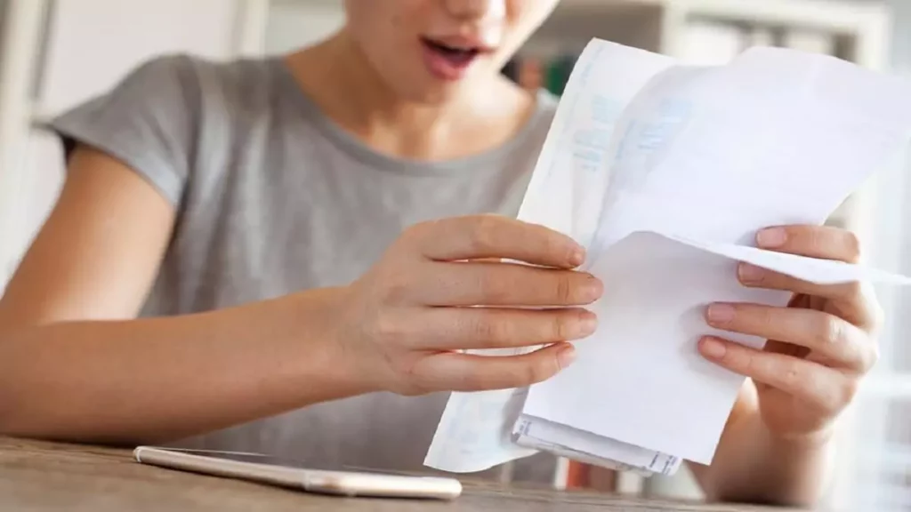
[[[151,466],[335,496],[450,500],[462,494],[462,484],[455,478],[315,469],[261,454],[139,446],[133,456]]]

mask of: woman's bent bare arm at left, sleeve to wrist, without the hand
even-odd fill
[[[302,343],[323,337],[332,290],[132,320],[173,219],[137,173],[75,152],[0,301],[0,433],[161,441],[364,391],[330,344]]]

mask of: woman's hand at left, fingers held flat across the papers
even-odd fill
[[[374,389],[425,394],[533,384],[572,362],[568,341],[595,331],[594,314],[580,306],[596,301],[602,286],[572,270],[584,260],[567,236],[518,220],[425,222],[348,287],[333,338]],[[546,346],[521,355],[459,352],[537,345]]]

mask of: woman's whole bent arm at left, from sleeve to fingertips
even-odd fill
[[[173,222],[157,194],[132,169],[77,151],[0,301],[0,434],[164,441],[372,391],[523,387],[569,364],[566,342],[596,327],[578,307],[602,290],[573,270],[583,249],[496,216],[406,230],[343,288],[134,320]],[[478,304],[496,307],[465,307]]]

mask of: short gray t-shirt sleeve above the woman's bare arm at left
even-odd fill
[[[200,113],[199,81],[189,56],[148,60],[108,90],[51,119],[67,159],[84,144],[118,159],[177,206],[191,169]]]

